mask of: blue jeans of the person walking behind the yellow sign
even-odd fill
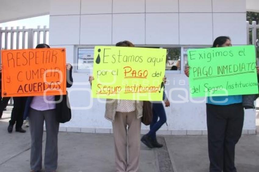
[[[147,133],[152,139],[156,138],[156,132],[166,122],[165,108],[163,103],[153,103],[153,119],[150,124],[150,131]],[[159,117],[159,121],[158,121]]]

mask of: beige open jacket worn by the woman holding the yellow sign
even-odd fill
[[[105,118],[114,122],[114,117],[117,108],[117,101],[116,99],[106,99],[105,105]],[[136,101],[136,117],[140,119],[142,117],[143,112],[143,101]]]

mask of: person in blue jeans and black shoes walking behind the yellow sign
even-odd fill
[[[169,107],[170,102],[166,97],[165,91],[163,91],[163,100],[165,101],[165,107]],[[158,143],[156,138],[156,132],[166,122],[166,114],[163,103],[161,101],[153,101],[152,112],[153,118],[150,124],[150,131],[141,138],[141,142],[149,148],[161,148],[163,145]]]

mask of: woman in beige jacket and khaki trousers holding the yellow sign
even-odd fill
[[[122,41],[116,46],[134,47],[134,44]],[[90,76],[90,84],[93,80]],[[142,113],[143,101],[106,99],[105,118],[112,121],[116,172],[137,172],[139,169]]]

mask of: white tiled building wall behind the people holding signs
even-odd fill
[[[220,35],[232,38],[235,45],[246,44],[245,0],[52,0],[50,44],[67,48],[67,61],[74,62],[76,45],[113,45],[130,40],[139,45],[211,45]],[[67,131],[111,132],[104,118],[105,105],[90,98],[88,73],[73,73],[77,91],[70,93],[73,118],[61,128]],[[167,74],[176,88],[184,74]],[[175,83],[175,84],[174,84]],[[88,91],[87,91],[88,90]],[[177,99],[183,91],[170,96]],[[179,99],[179,98],[178,98]],[[205,103],[186,102],[166,108],[168,127],[161,134],[206,134]],[[74,127],[74,128],[71,128]],[[146,129],[143,126],[143,129]],[[255,131],[255,112],[246,112],[244,133]],[[202,132],[203,131],[203,132]],[[143,130],[143,133],[146,130]]]

